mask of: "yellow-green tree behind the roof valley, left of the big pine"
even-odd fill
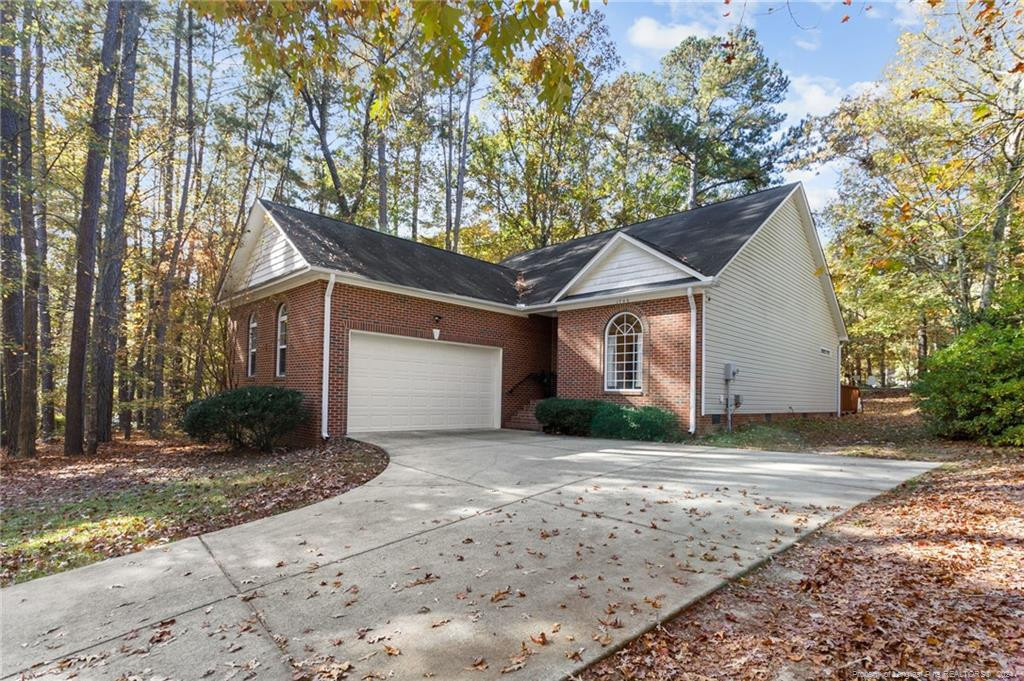
[[[573,74],[562,103],[545,103],[529,55],[490,88],[496,123],[474,140],[470,167],[475,201],[495,218],[501,251],[571,239],[597,221],[601,198],[590,163],[607,121],[599,93],[621,63],[602,18],[594,12],[555,22],[539,43],[545,63]]]

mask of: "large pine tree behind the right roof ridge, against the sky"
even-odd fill
[[[655,82],[644,136],[685,167],[688,208],[722,187],[771,182],[785,118],[775,105],[790,81],[752,29],[687,38],[662,59]]]

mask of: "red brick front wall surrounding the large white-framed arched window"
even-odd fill
[[[695,399],[700,399],[700,314],[696,303],[697,381]],[[620,312],[633,312],[644,325],[644,374],[641,394],[604,390],[604,330]],[[645,300],[625,305],[604,305],[563,310],[558,316],[558,395],[582,399],[604,399],[636,407],[667,409],[689,427],[690,397],[690,305],[685,296]],[[699,401],[696,405],[700,413]]]

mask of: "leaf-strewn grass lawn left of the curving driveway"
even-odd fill
[[[0,585],[306,506],[385,466],[382,450],[352,440],[271,454],[116,440],[75,458],[50,443],[3,462]]]

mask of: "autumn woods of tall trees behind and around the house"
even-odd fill
[[[229,387],[214,301],[257,197],[498,260],[839,160],[844,374],[912,378],[1024,265],[1021,9],[932,4],[784,129],[752,30],[632,73],[586,2],[5,2],[3,446],[159,434]]]

